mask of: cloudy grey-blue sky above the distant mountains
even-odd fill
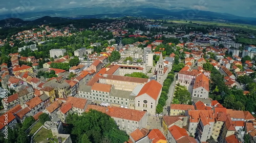
[[[2,0],[3,1],[3,0]],[[77,7],[151,6],[163,9],[196,9],[256,17],[256,0],[10,0],[0,3],[0,15]],[[118,12],[117,12],[118,13]],[[86,14],[85,14],[86,15]]]

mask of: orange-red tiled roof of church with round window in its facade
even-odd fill
[[[162,85],[158,83],[156,80],[151,80],[144,84],[143,88],[140,90],[139,94],[136,96],[140,96],[143,94],[147,94],[148,96],[152,97],[154,100],[158,99],[160,92],[162,90]]]

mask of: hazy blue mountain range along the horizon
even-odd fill
[[[198,10],[165,10],[159,8],[141,8],[141,7],[94,7],[94,8],[74,8],[65,10],[51,10],[43,12],[23,13],[16,19],[1,20],[1,23],[8,23],[8,21],[24,22],[22,19],[31,22],[44,22],[47,18],[44,16],[51,17],[62,17],[59,19],[55,18],[55,22],[60,22],[68,19],[82,19],[82,18],[110,18],[110,17],[122,17],[122,16],[135,16],[144,18],[161,18],[161,19],[185,19],[187,21],[193,20],[215,20],[232,23],[244,23],[244,24],[256,24],[256,18],[240,17],[227,13],[216,13],[209,11],[198,11]],[[8,15],[0,16],[0,19],[5,19]],[[40,17],[44,17],[40,19]],[[20,18],[20,19],[19,19]],[[39,18],[39,19],[37,19]],[[48,17],[50,18],[50,17]],[[63,19],[65,18],[65,19]],[[36,19],[36,20],[35,20]],[[29,20],[29,21],[28,21]],[[46,20],[49,22],[49,19]]]

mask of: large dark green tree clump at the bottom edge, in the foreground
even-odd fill
[[[114,119],[97,110],[90,110],[81,116],[68,115],[67,123],[72,125],[72,142],[98,143],[105,137],[111,142],[125,142],[129,139],[124,131],[118,129]]]

